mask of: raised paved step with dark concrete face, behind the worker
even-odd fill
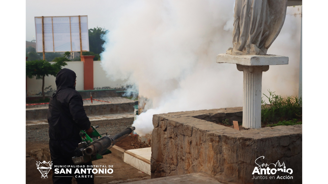
[[[91,100],[83,101],[87,116],[109,115],[119,113],[133,113],[134,101],[122,97],[97,98],[97,100],[110,101],[101,102]],[[26,106],[26,120],[46,120],[49,104]]]

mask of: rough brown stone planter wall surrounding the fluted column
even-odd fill
[[[240,119],[241,111],[235,107],[154,115],[152,178],[205,172],[224,182],[301,183],[302,125],[237,131],[206,121]],[[263,163],[284,162],[293,169],[293,179],[252,179],[260,156],[265,156]]]

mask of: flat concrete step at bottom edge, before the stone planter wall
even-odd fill
[[[146,179],[140,181],[127,182],[126,184],[223,184],[214,177],[205,173],[193,173],[187,175],[177,175],[169,177],[161,177],[155,179]]]

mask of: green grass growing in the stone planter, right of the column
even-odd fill
[[[282,98],[281,95],[276,95],[275,92],[269,91],[269,96],[266,96],[269,103],[262,100],[261,121],[263,124],[277,121],[289,121],[293,119],[301,119],[302,117],[302,98],[287,96]],[[277,126],[277,125],[276,125]]]

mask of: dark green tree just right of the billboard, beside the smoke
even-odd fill
[[[93,52],[95,54],[100,54],[104,51],[102,45],[105,43],[105,41],[102,38],[104,34],[106,34],[108,30],[105,28],[93,28],[89,29],[89,48],[90,52]],[[97,60],[95,60],[97,61]]]

